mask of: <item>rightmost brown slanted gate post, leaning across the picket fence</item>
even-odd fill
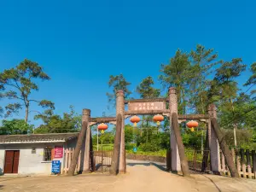
[[[239,177],[238,172],[236,170],[235,163],[232,160],[232,157],[230,155],[230,149],[228,148],[228,146],[227,146],[227,144],[224,140],[223,134],[219,130],[217,119],[212,118],[211,122],[212,122],[212,128],[213,128],[213,130],[214,130],[214,132],[215,132],[215,134],[218,138],[218,143],[220,145],[220,148],[221,148],[222,152],[224,153],[224,158],[225,158],[226,163],[229,167],[231,177]]]

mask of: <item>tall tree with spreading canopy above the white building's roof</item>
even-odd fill
[[[0,73],[0,97],[15,100],[5,106],[6,116],[18,113],[25,108],[25,121],[27,123],[29,109],[32,102],[37,102],[42,108],[54,109],[54,103],[47,100],[34,100],[31,98],[32,90],[39,90],[37,79],[49,80],[43,68],[37,62],[25,59],[15,68],[4,70]]]

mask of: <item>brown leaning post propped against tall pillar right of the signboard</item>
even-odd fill
[[[188,164],[188,160],[185,156],[183,139],[181,137],[179,127],[178,127],[177,113],[172,113],[172,127],[173,127],[173,131],[174,131],[174,134],[176,137],[176,143],[177,143],[178,154],[179,154],[179,159],[181,162],[181,170],[183,172],[183,176],[189,177],[189,164]]]

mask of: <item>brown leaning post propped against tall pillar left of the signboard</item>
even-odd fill
[[[119,173],[119,156],[120,156],[120,143],[121,143],[121,131],[123,125],[122,116],[119,114],[117,116],[117,124],[116,131],[114,137],[114,145],[113,145],[113,156],[111,162],[110,174],[117,175]]]

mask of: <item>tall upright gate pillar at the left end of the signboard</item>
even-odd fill
[[[118,90],[116,93],[116,117],[121,116],[121,141],[120,141],[120,155],[119,155],[119,172],[126,172],[125,165],[125,94],[123,90]]]

